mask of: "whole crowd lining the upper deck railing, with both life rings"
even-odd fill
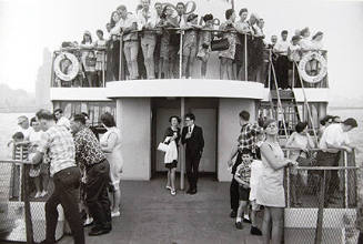
[[[256,81],[270,88],[275,87],[275,79],[279,88],[288,89],[301,87],[300,77],[306,87],[326,87],[321,31],[310,38],[309,28],[304,28],[289,40],[283,30],[281,40],[272,35],[269,43],[264,20],[255,13],[249,17],[245,8],[225,10],[223,22],[211,13],[199,18],[195,8],[192,1],[175,7],[157,2],[152,7],[149,0],[141,1],[135,13],[125,6],[118,7],[107,23],[107,38],[98,30],[98,40],[92,41],[85,31],[80,44],[63,42],[54,52],[53,87],[213,78]],[[209,70],[213,55],[219,58],[219,69]]]

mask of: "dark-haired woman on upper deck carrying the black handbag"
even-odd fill
[[[220,26],[221,31],[223,32],[223,38],[229,41],[229,49],[220,52],[220,79],[223,80],[224,73],[226,72],[228,80],[234,80],[233,75],[233,60],[235,54],[235,12],[233,9],[225,10],[226,21]]]

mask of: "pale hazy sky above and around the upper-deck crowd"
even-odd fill
[[[265,33],[310,27],[324,32],[332,96],[363,98],[363,1],[234,0],[265,20]],[[0,0],[0,83],[33,92],[43,49],[81,41],[84,30],[105,29],[120,4],[133,11],[137,0]],[[154,1],[152,0],[152,3]],[[161,0],[161,2],[165,2]],[[177,2],[171,0],[171,2]],[[223,0],[195,0],[196,13],[224,20]]]

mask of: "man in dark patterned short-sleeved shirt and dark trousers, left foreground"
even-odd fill
[[[108,196],[110,164],[95,135],[85,126],[83,114],[74,115],[71,130],[74,134],[75,161],[85,169],[85,203],[94,222],[89,235],[107,234],[112,228]]]

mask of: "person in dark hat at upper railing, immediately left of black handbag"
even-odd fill
[[[201,32],[201,40],[199,44],[199,51],[196,57],[202,61],[201,65],[201,74],[202,79],[205,79],[206,74],[206,63],[210,58],[210,52],[211,52],[211,41],[212,41],[212,32],[208,30],[213,30],[213,14],[205,14],[203,17],[203,21],[205,23],[204,27],[202,27],[202,32]],[[204,30],[204,31],[203,31]]]

